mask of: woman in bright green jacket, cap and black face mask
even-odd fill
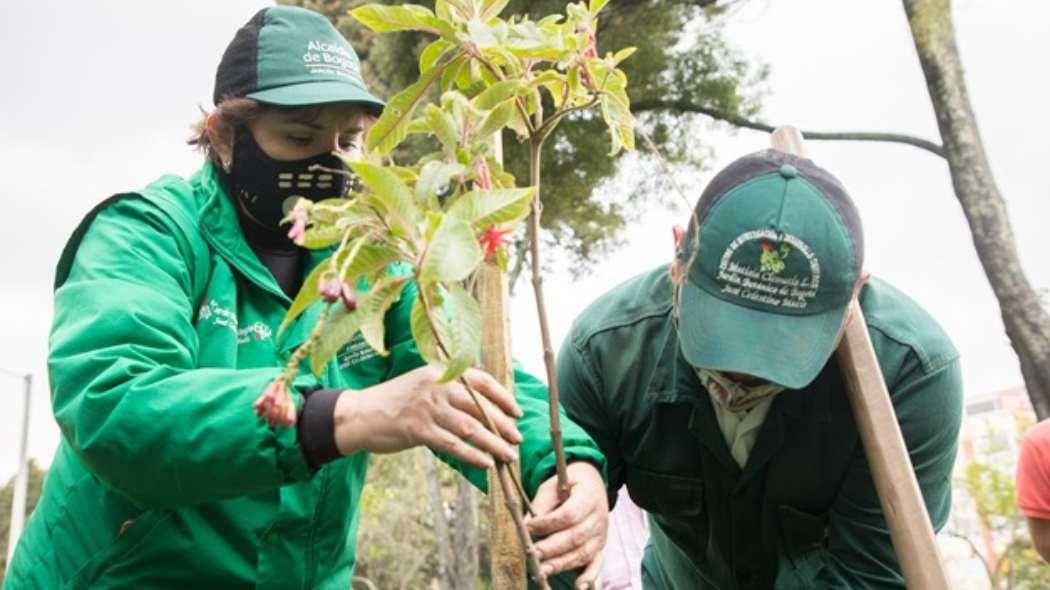
[[[544,385],[516,372],[516,398],[470,371],[499,435],[487,431],[466,392],[423,365],[412,289],[386,316],[387,357],[358,335],[320,378],[297,379],[291,427],[255,417],[320,312],[277,335],[324,257],[278,229],[285,201],[343,194],[342,176],[309,168],[339,166],[331,152],[356,150],[383,104],[335,28],[288,6],[237,31],[214,100],[194,142],[204,167],[110,197],[59,261],[48,366],[62,441],[5,588],[344,590],[369,452],[419,445],[479,487],[490,456],[520,451],[545,569],[588,566],[578,585],[593,580],[602,455],[566,423],[575,486],[553,508]]]

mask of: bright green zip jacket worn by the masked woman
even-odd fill
[[[320,305],[276,336],[291,301],[212,167],[92,211],[56,289],[48,366],[62,440],[5,588],[349,588],[369,455],[311,473],[295,428],[252,410]],[[297,384],[357,389],[420,366],[414,296],[386,316],[388,357],[358,335],[319,380],[304,371]],[[516,384],[534,493],[554,462],[546,387],[520,371]],[[579,427],[565,433],[570,457],[604,463]],[[483,471],[460,469],[484,487]]]

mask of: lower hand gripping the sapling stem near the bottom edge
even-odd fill
[[[547,575],[584,568],[576,588],[596,588],[602,550],[609,527],[609,501],[602,475],[590,463],[568,466],[570,494],[558,505],[558,478],[543,482],[532,500],[536,513],[526,520],[529,532],[546,538],[534,545]]]

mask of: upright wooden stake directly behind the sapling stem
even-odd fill
[[[502,139],[492,140],[496,157],[503,161]],[[510,356],[510,294],[507,275],[498,266],[484,261],[477,275],[478,300],[481,304],[481,364],[509,391],[513,391],[513,367]],[[516,472],[518,462],[509,465]],[[492,588],[525,588],[525,549],[518,538],[518,527],[507,509],[496,469],[488,470],[488,522],[491,542],[489,570]]]

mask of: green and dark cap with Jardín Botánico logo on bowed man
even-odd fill
[[[835,176],[770,149],[715,175],[678,258],[688,265],[678,318],[686,360],[800,388],[834,352],[864,239]]]

